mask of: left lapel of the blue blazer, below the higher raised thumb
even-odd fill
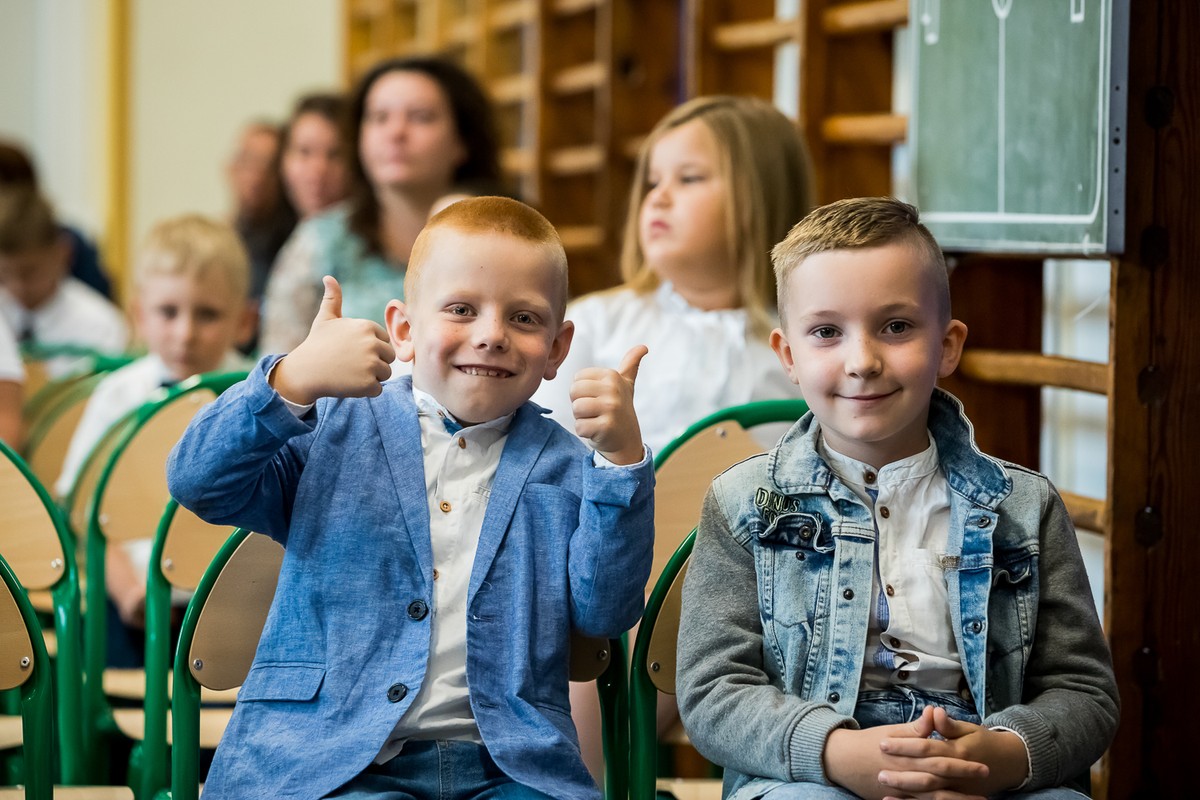
[[[416,552],[426,585],[433,585],[433,545],[430,542],[430,505],[425,492],[425,453],[421,426],[413,402],[409,377],[384,384],[383,393],[370,399],[379,427],[379,439],[396,486],[400,516],[408,541]]]

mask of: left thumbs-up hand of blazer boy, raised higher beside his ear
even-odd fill
[[[396,357],[388,333],[368,319],[343,318],[342,287],[328,275],[324,284],[307,338],[275,367],[271,386],[301,405],[319,397],[376,397]]]

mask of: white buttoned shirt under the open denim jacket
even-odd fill
[[[875,516],[875,576],[863,688],[916,686],[959,692],[962,663],[950,622],[941,557],[950,522],[950,487],[937,445],[883,469],[820,444],[834,474]]]

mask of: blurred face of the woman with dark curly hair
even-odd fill
[[[416,71],[380,76],[367,92],[359,155],[372,186],[444,194],[467,157],[438,83]]]

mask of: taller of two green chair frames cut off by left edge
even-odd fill
[[[66,521],[46,487],[34,475],[29,465],[11,447],[0,441],[0,459],[16,469],[36,493],[38,501],[53,524],[61,555],[61,564],[52,564],[58,578],[49,585],[31,587],[48,589],[53,608],[54,633],[58,652],[53,661],[53,675],[59,702],[55,705],[55,729],[59,741],[60,780],[68,786],[86,783],[91,776],[86,768],[84,729],[79,709],[83,705],[83,621],[79,608],[79,572],[74,559],[74,541]],[[11,569],[11,567],[10,567]],[[24,585],[23,585],[24,589]],[[41,626],[38,626],[41,631]],[[38,639],[41,642],[41,639]],[[44,642],[42,643],[44,648]],[[49,662],[47,662],[49,663]],[[49,674],[49,673],[47,673]]]

